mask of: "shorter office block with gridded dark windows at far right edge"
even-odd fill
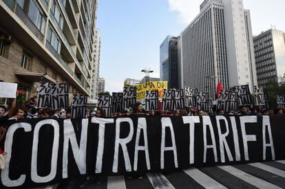
[[[283,77],[285,74],[284,32],[271,29],[253,38],[257,82],[265,87],[269,78]]]

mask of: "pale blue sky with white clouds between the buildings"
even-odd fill
[[[243,0],[251,10],[253,35],[274,25],[285,32],[284,0]],[[178,36],[200,12],[203,0],[98,0],[101,33],[100,77],[105,91],[123,90],[126,78],[142,79],[142,69],[159,78],[160,44]],[[283,16],[282,16],[283,15]],[[283,19],[282,19],[283,18]]]

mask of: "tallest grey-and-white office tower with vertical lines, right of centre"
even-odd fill
[[[249,10],[242,0],[205,0],[182,32],[182,86],[209,91],[257,83]]]

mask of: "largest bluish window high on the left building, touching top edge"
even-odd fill
[[[33,0],[30,1],[28,16],[31,21],[38,27],[38,29],[43,34],[45,30],[45,16],[43,16],[43,12],[40,11],[39,5],[36,5]]]

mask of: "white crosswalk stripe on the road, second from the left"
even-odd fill
[[[147,178],[151,182],[151,185],[154,186],[154,188],[174,189],[172,184],[161,173],[147,173]]]

